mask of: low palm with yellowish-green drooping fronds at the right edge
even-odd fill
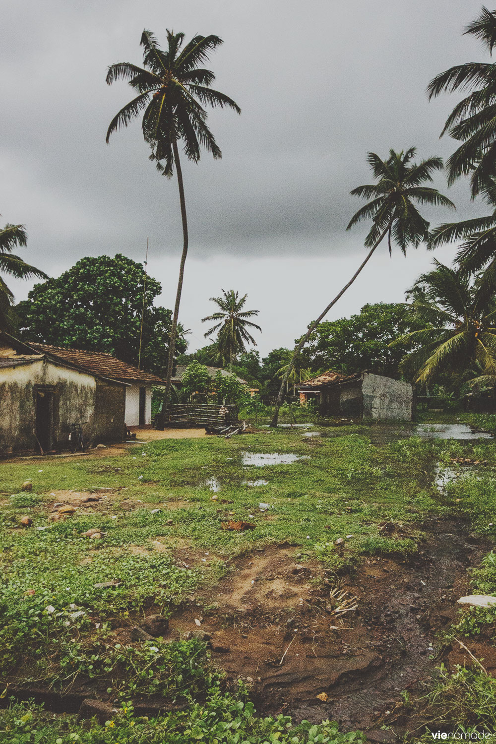
[[[435,268],[422,274],[408,292],[413,318],[423,328],[406,333],[392,346],[405,342],[416,350],[400,365],[413,381],[426,384],[443,372],[472,382],[496,375],[496,301],[460,269],[434,260]],[[477,372],[474,372],[477,370]]]

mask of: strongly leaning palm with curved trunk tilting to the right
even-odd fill
[[[289,362],[288,370],[283,377],[283,382],[281,382],[279,394],[277,395],[271,426],[277,426],[279,408],[283,403],[286,382],[289,379],[297,356],[323,317],[339,298],[344,295],[344,292],[352,285],[361,270],[364,269],[367,261],[370,260],[373,252],[380,243],[387,237],[390,254],[393,250],[393,243],[399,246],[403,254],[406,254],[408,246],[417,248],[420,243],[427,241],[429,236],[429,223],[419,213],[416,204],[440,205],[454,208],[453,202],[447,199],[446,196],[443,196],[442,193],[439,193],[437,189],[424,185],[426,182],[432,182],[434,171],[442,170],[441,158],[428,158],[416,164],[413,161],[415,154],[416,150],[414,147],[410,147],[410,150],[407,150],[406,153],[396,153],[394,150],[390,150],[387,160],[381,160],[376,153],[369,153],[367,159],[376,183],[358,186],[351,193],[353,196],[361,196],[364,199],[371,199],[371,201],[358,210],[347,227],[347,230],[350,230],[353,225],[356,225],[363,219],[372,219],[372,227],[365,239],[365,247],[369,248],[369,252],[360,266],[358,266],[350,281],[329,302],[317,320],[309,325],[306,334],[302,336],[297,347],[295,347],[292,360]]]

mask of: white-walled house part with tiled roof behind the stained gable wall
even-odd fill
[[[49,354],[51,359],[123,382],[126,388],[126,426],[149,426],[152,423],[152,385],[165,385],[164,380],[157,375],[121,362],[103,351],[65,349],[47,344],[28,345],[41,353]]]

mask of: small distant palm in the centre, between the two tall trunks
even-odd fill
[[[229,359],[231,370],[236,354],[246,351],[245,344],[257,346],[257,341],[251,336],[248,328],[256,328],[262,333],[260,326],[248,320],[258,315],[260,310],[243,310],[247,297],[248,295],[239,297],[239,292],[234,292],[233,289],[229,289],[228,292],[222,289],[222,297],[210,297],[210,301],[215,302],[219,310],[202,318],[202,323],[219,321],[207,330],[204,336],[207,339],[217,331],[219,359]]]

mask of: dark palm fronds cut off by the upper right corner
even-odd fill
[[[465,33],[483,41],[492,55],[496,45],[496,10],[483,7]],[[455,65],[434,77],[428,85],[429,99],[457,90],[470,93],[454,107],[441,133],[442,136],[448,132],[463,143],[446,163],[448,183],[451,185],[460,176],[470,175],[474,197],[496,173],[496,64],[466,62]]]

